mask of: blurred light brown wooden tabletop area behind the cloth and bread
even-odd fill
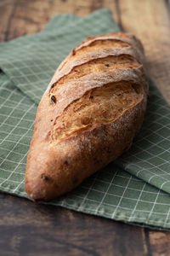
[[[85,16],[102,7],[111,9],[126,32],[144,44],[148,71],[170,103],[170,18],[164,0],[3,0],[0,3],[0,40],[38,32],[56,13]]]

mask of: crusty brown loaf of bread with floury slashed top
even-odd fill
[[[133,35],[90,37],[72,49],[37,108],[27,194],[63,195],[130,148],[147,94],[144,49]]]

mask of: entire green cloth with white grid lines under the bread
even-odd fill
[[[88,36],[119,31],[108,9],[56,15],[42,32],[0,44],[0,190],[28,198],[26,157],[37,104],[59,63]],[[170,108],[150,82],[132,148],[48,204],[158,230],[170,229]]]

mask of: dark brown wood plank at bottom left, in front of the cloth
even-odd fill
[[[0,203],[0,255],[149,255],[139,227],[11,195]]]

